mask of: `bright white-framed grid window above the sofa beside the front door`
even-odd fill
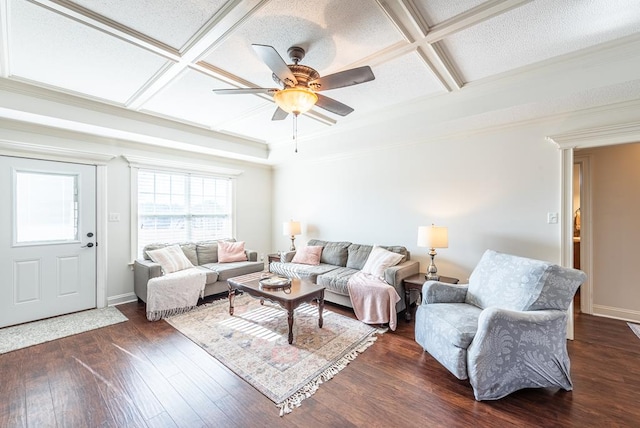
[[[231,179],[140,169],[137,183],[138,256],[153,242],[232,236]]]

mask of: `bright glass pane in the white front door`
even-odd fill
[[[76,241],[77,177],[16,172],[16,243]]]

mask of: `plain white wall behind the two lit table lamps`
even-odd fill
[[[578,111],[457,135],[455,125],[448,135],[429,135],[414,120],[413,128],[301,142],[299,156],[274,171],[274,244],[287,248],[281,222],[294,218],[303,224],[299,245],[310,238],[404,245],[424,271],[427,249],[416,246],[417,231],[435,223],[449,228],[449,248],[436,257],[445,276],[466,281],[487,248],[560,263],[562,217],[548,224],[547,213],[563,215],[561,152],[546,137],[635,120],[637,110]],[[318,155],[349,140],[360,150]]]

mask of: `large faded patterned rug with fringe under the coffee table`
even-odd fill
[[[288,343],[287,312],[246,295],[165,319],[235,374],[273,401],[280,416],[300,406],[325,381],[371,346],[377,330],[328,310],[318,327],[318,308],[296,309],[293,344]]]

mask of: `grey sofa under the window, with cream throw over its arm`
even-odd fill
[[[235,239],[226,239],[225,241],[235,242]],[[168,245],[170,244],[147,245],[142,251],[144,258],[137,259],[133,263],[133,288],[138,299],[145,303],[147,301],[147,282],[151,278],[163,274],[160,264],[153,262],[147,251],[157,250]],[[196,268],[207,273],[205,296],[228,291],[227,279],[229,278],[264,270],[264,262],[258,261],[258,253],[253,250],[245,250],[246,261],[220,263],[218,260],[218,241],[186,242],[179,245],[189,261]]]

